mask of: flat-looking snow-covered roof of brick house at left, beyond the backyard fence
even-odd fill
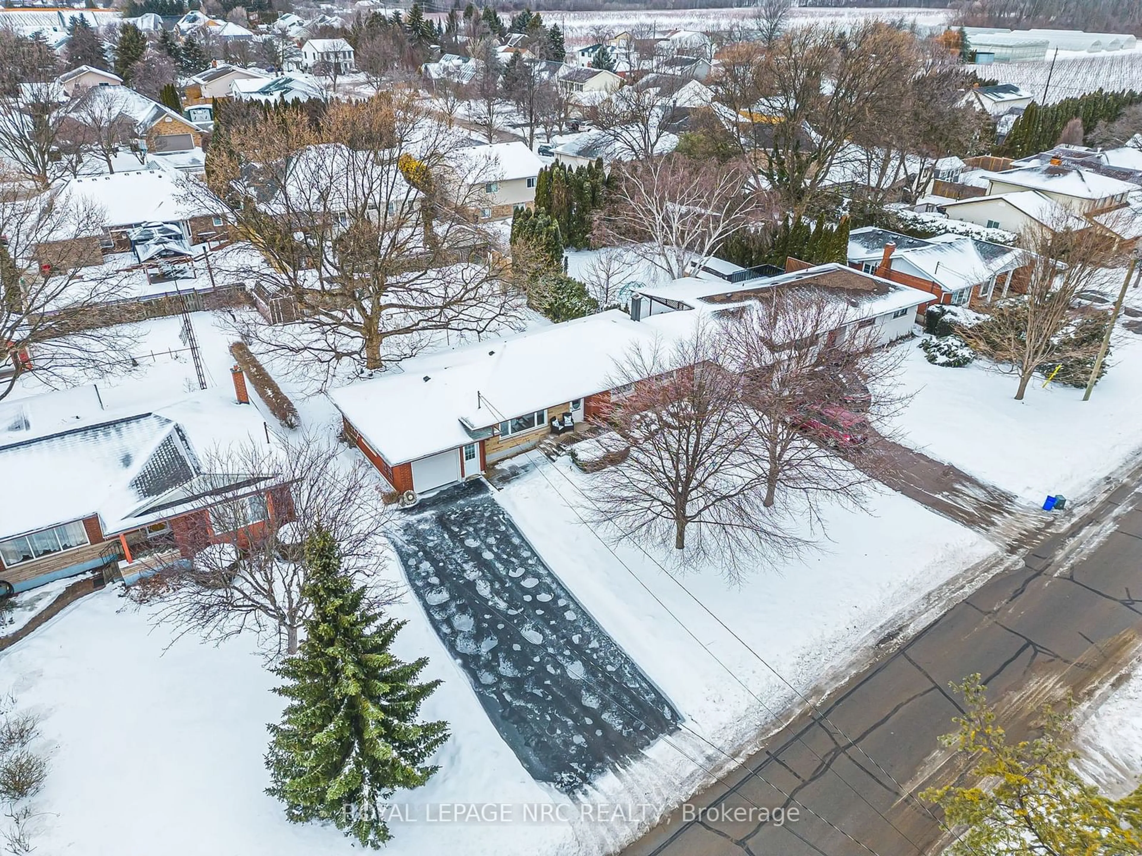
[[[184,179],[168,170],[115,172],[73,178],[61,197],[103,211],[103,226],[134,226],[150,220],[177,221],[211,213],[186,197]],[[218,212],[222,208],[218,208]]]

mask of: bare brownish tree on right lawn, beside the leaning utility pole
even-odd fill
[[[1035,372],[1052,364],[1092,360],[1100,342],[1067,336],[1093,314],[1077,301],[1097,290],[1101,265],[1113,264],[1093,229],[1038,225],[1020,233],[1027,265],[1027,293],[991,306],[989,320],[960,328],[968,345],[999,371],[1015,374],[1015,399],[1022,401]]]

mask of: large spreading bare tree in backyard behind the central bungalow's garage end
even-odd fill
[[[316,126],[254,115],[231,132],[241,146],[211,147],[210,186],[260,251],[235,273],[298,309],[286,326],[242,328],[263,349],[373,370],[515,317],[472,221],[488,164],[464,161],[464,135],[415,97],[338,102]]]

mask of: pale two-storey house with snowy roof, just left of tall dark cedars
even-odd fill
[[[467,187],[476,187],[481,219],[510,217],[517,208],[536,202],[536,183],[544,162],[523,143],[492,143],[456,152],[457,175]],[[468,196],[468,194],[465,194]]]

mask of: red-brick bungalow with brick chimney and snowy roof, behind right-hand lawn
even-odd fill
[[[874,226],[849,235],[849,265],[864,273],[928,292],[919,307],[990,302],[1026,290],[1028,261],[1022,250],[963,235],[911,237]]]

